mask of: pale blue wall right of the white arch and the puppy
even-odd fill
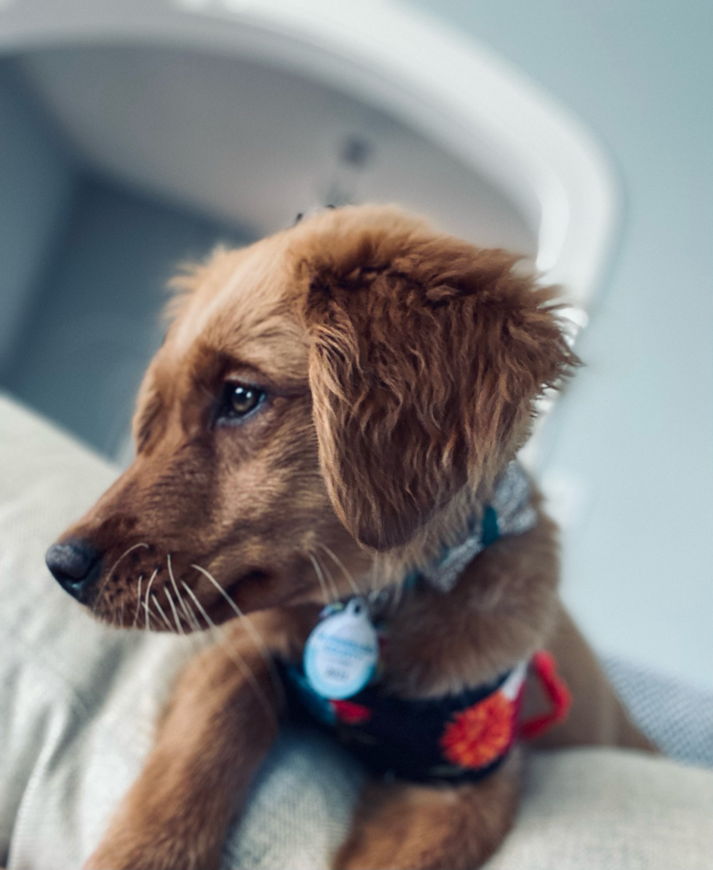
[[[623,235],[550,421],[565,597],[604,650],[713,684],[713,4],[411,0],[559,97],[619,173]]]

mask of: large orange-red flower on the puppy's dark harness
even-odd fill
[[[484,767],[510,746],[514,727],[514,706],[496,692],[456,713],[441,736],[443,755],[461,767]]]

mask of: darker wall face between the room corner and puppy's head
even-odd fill
[[[77,181],[61,250],[45,265],[3,386],[121,458],[138,385],[163,338],[165,284],[177,264],[222,240],[246,239],[114,184]]]

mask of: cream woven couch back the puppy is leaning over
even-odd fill
[[[0,864],[13,870],[81,865],[141,769],[177,667],[205,642],[99,625],[44,567],[46,547],[116,473],[0,397]],[[286,733],[223,867],[328,867],[361,781],[336,747]],[[491,867],[711,867],[712,783],[633,753],[536,756]]]

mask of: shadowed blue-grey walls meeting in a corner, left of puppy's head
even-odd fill
[[[251,239],[88,175],[0,59],[1,387],[123,458],[164,285],[221,240]]]

